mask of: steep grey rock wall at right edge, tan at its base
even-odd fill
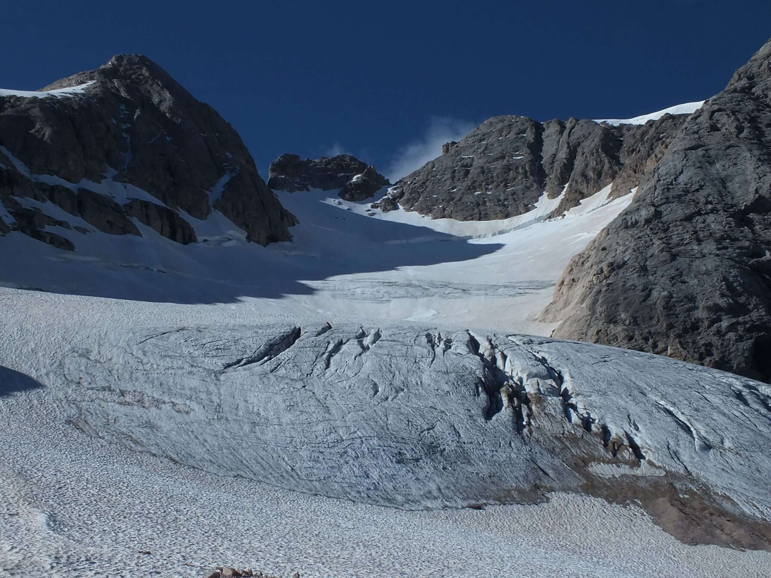
[[[555,335],[771,380],[771,42],[558,282]]]

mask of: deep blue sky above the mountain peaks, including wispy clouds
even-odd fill
[[[2,2],[0,87],[150,56],[241,133],[399,173],[489,116],[628,118],[708,98],[771,2]]]

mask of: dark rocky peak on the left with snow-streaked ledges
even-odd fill
[[[150,59],[117,55],[35,96],[3,94],[0,203],[16,224],[0,233],[45,233],[42,240],[59,244],[50,231],[33,234],[23,216],[52,203],[108,234],[140,235],[135,218],[187,244],[196,236],[185,213],[204,220],[216,209],[247,240],[291,239],[295,217],[261,180],[238,134]]]

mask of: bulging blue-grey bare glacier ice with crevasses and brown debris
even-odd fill
[[[658,355],[258,324],[99,334],[62,367],[83,431],[219,475],[406,509],[588,492],[687,541],[771,544],[771,388]]]

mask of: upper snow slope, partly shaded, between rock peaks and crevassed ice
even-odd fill
[[[611,200],[606,189],[564,218],[545,220],[559,197],[544,195],[529,213],[475,223],[404,210],[382,213],[370,209],[371,203],[341,200],[336,191],[278,197],[300,220],[291,228],[291,243],[247,243],[218,210],[207,220],[185,215],[198,240],[187,245],[136,220],[142,237],[47,227],[77,240],[75,251],[14,231],[0,237],[0,284],[139,301],[248,301],[354,320],[417,316],[480,327],[493,322],[496,328],[544,334],[551,325],[532,320],[567,261],[631,199]],[[62,213],[53,203],[24,201],[52,217]],[[495,317],[493,309],[499,311]]]

